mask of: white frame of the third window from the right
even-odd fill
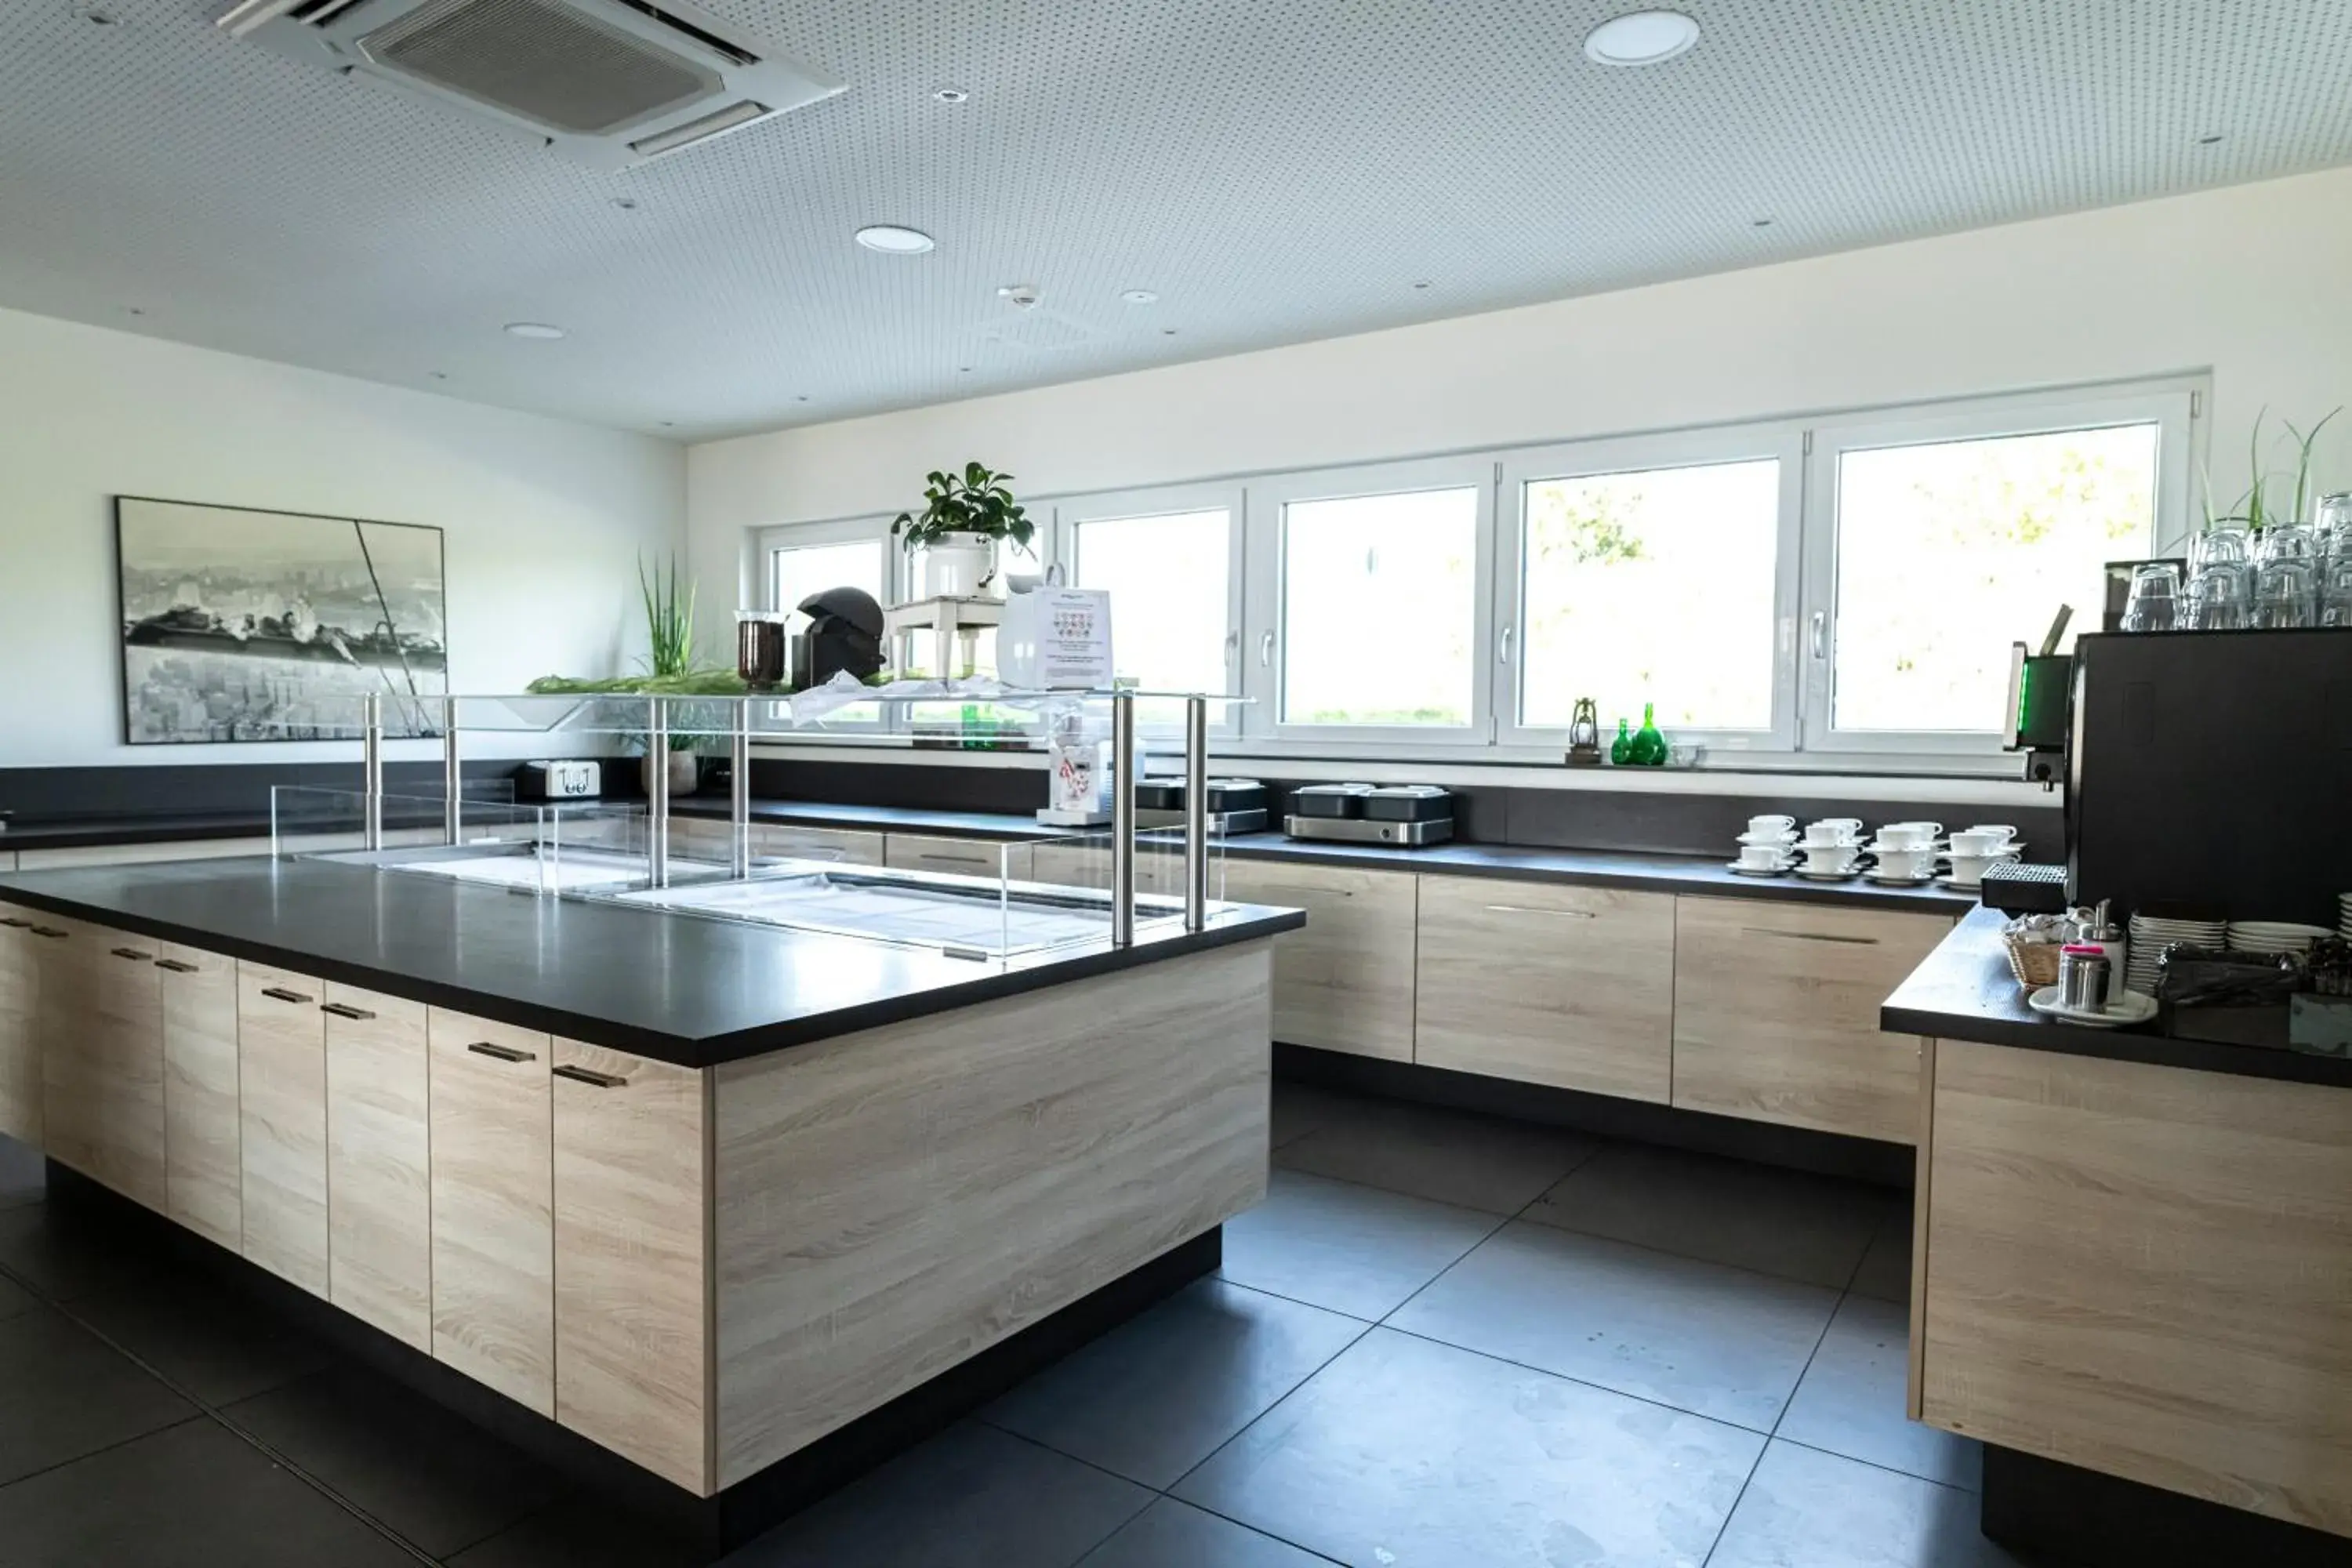
[[[1411,458],[1402,463],[1367,463],[1350,468],[1322,468],[1310,473],[1287,473],[1249,482],[1247,555],[1249,574],[1244,588],[1242,618],[1242,693],[1254,698],[1244,710],[1244,733],[1251,741],[1282,741],[1294,755],[1364,755],[1374,750],[1437,752],[1491,752],[1494,750],[1494,682],[1486,679],[1482,661],[1494,649],[1494,494],[1496,454],[1468,454],[1446,458]],[[1282,543],[1284,508],[1294,501],[1345,501],[1355,496],[1395,496],[1428,489],[1470,489],[1477,494],[1475,557],[1470,578],[1470,724],[1423,726],[1423,724],[1287,724],[1282,719],[1282,625],[1284,583]],[[1411,637],[1418,628],[1364,628],[1364,646],[1383,646],[1390,639]]]

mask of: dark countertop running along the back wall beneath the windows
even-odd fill
[[[727,816],[724,799],[684,797],[675,816]],[[913,811],[898,806],[840,806],[802,799],[755,799],[755,823],[800,827],[863,827],[882,832],[941,832],[953,837],[1058,839],[1068,827],[1044,827],[1035,818],[990,811]],[[1108,832],[1108,830],[1096,830]],[[1604,849],[1526,849],[1517,844],[1430,844],[1385,849],[1381,844],[1310,844],[1279,832],[1223,839],[1237,860],[1298,860],[1308,865],[1355,865],[1378,870],[1444,872],[1449,877],[1515,877],[1522,882],[1578,882],[1653,893],[1705,893],[1724,898],[1773,898],[1780,903],[1875,905],[1957,914],[1976,907],[1969,893],[1950,889],[1882,889],[1867,882],[1799,882],[1797,877],[1740,877],[1712,856],[1651,856]]]

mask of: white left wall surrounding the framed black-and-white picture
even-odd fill
[[[642,651],[635,562],[680,541],[684,451],[0,310],[0,766],[355,755],[122,745],[118,494],[440,527],[452,686],[513,691]]]

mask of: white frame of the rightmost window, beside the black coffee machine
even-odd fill
[[[1811,421],[1811,456],[1804,482],[1804,571],[1799,602],[1802,644],[1802,738],[1806,752],[1820,755],[1994,755],[2004,736],[1990,731],[1886,731],[1837,729],[1837,461],[1846,451],[1907,447],[1919,442],[1964,442],[2053,430],[2093,430],[2103,425],[2157,425],[2157,508],[2145,541],[2154,555],[2164,543],[2190,531],[2190,473],[2194,468],[2194,414],[2201,407],[2201,378],[2147,381],[2129,388],[2086,388],[2074,393],[2020,393],[1945,402],[1912,411],[1877,411],[1856,418]],[[2077,604],[2074,628],[2098,630],[2103,604]],[[1997,642],[2025,639],[2034,628],[1987,625]]]

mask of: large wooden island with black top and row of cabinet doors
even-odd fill
[[[270,858],[0,917],[0,1133],[710,1549],[1216,1265],[1303,924],[974,961]]]

